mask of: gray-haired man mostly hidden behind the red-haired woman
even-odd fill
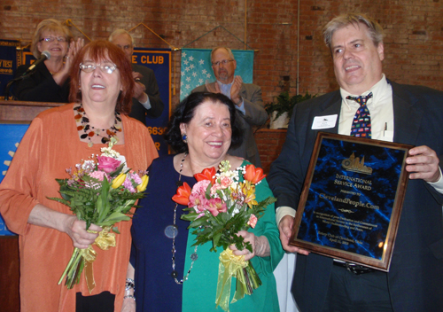
[[[153,70],[146,66],[132,63],[134,38],[126,30],[117,29],[113,31],[108,40],[125,52],[132,66],[132,76],[136,81],[136,86],[129,117],[142,121],[144,124],[146,124],[146,116],[148,118],[158,118],[163,113],[165,105],[161,101],[159,85]]]

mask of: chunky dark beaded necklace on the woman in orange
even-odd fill
[[[83,105],[74,106],[74,119],[77,123],[77,130],[83,141],[88,141],[88,146],[92,147],[94,136],[101,136],[100,143],[107,144],[112,136],[117,136],[117,132],[121,132],[120,113],[115,112],[113,126],[109,129],[97,129],[89,125],[89,118],[84,111]]]

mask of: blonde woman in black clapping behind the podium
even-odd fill
[[[35,29],[31,51],[37,59],[43,51],[49,51],[51,58],[35,66],[33,74],[15,82],[14,96],[20,101],[67,103],[69,71],[83,44],[83,39],[74,41],[69,28],[58,20],[42,20]],[[16,77],[24,74],[29,66],[19,66]]]

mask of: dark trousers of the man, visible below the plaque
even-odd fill
[[[323,312],[361,311],[393,311],[387,274],[374,270],[357,276],[346,268],[333,265]]]

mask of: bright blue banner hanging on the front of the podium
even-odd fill
[[[0,175],[0,183],[3,181],[4,175],[6,175],[6,171],[11,164],[12,157],[14,153],[17,151],[17,147],[19,146],[19,142],[21,138],[27,132],[27,128],[29,124],[21,124],[21,123],[0,123],[0,131],[4,134],[2,140],[0,140],[0,155],[1,155],[1,175]],[[4,220],[0,215],[0,235],[15,235],[12,231],[6,228],[4,224]]]

